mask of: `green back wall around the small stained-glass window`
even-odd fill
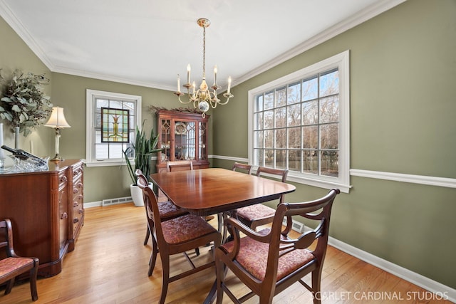
[[[157,132],[155,114],[148,110],[150,105],[167,109],[181,108],[182,106],[175,95],[167,90],[62,73],[53,73],[52,80],[53,100],[58,100],[59,105],[65,108],[66,120],[71,125],[70,129],[62,131],[61,136],[61,155],[66,158],[86,157],[87,89],[142,96],[142,120],[145,120],[145,129],[150,130],[153,127],[155,132]],[[209,149],[209,154],[211,152],[212,150]],[[86,203],[130,196],[131,182],[125,166],[86,167],[84,179],[86,181],[84,183],[84,201]]]

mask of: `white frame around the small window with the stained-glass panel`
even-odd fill
[[[95,98],[120,99],[136,103],[136,125],[141,127],[142,97],[122,93],[105,92],[100,90],[86,90],[86,164],[87,167],[118,166],[125,164],[123,157],[119,159],[95,158]],[[131,141],[131,140],[130,140]]]

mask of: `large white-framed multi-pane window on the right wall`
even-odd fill
[[[349,188],[348,51],[249,91],[249,154],[289,180]]]

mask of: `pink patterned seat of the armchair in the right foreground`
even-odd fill
[[[263,229],[259,234],[269,234],[271,229]],[[239,254],[236,260],[255,278],[263,281],[266,274],[269,243],[261,243],[249,237],[241,239]],[[222,245],[227,251],[233,250],[234,241]],[[301,266],[313,261],[315,256],[307,249],[299,249],[279,257],[277,281],[292,273]]]

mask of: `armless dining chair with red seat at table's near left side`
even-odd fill
[[[180,278],[185,278],[204,269],[214,266],[214,259],[200,266],[195,266],[195,263],[188,256],[187,251],[205,246],[207,243],[213,243],[214,247],[220,246],[222,237],[219,232],[214,229],[207,221],[204,221],[201,216],[187,214],[179,216],[175,219],[162,221],[160,219],[160,211],[158,209],[157,197],[148,184],[144,184],[138,179],[138,186],[144,193],[144,203],[147,210],[147,221],[149,226],[154,227],[152,240],[155,239],[157,247],[153,247],[155,258],[160,251],[160,260],[162,261],[162,292],[160,295],[160,304],[165,303],[168,285]],[[209,251],[212,252],[212,251]],[[192,266],[187,271],[174,274],[170,277],[170,256],[177,253],[184,253],[187,261]],[[150,263],[149,268],[155,266],[155,259]]]

